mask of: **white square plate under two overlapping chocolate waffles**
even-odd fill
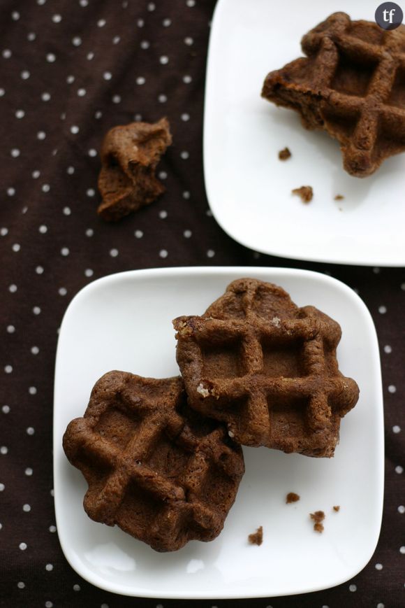
[[[360,386],[342,420],[331,460],[244,448],[246,474],[221,535],[176,553],[156,553],[119,528],[84,513],[87,484],[62,450],[72,418],[82,416],[96,380],[110,369],[142,376],[178,374],[172,318],[198,314],[235,278],[252,276],[286,288],[299,305],[336,319],[343,337],[341,371]],[[285,503],[296,492],[301,500]],[[85,287],[66,311],[54,393],[54,499],[57,530],[73,568],[94,585],[154,598],[253,598],[337,585],[374,552],[383,502],[383,403],[376,332],[366,306],[334,278],[293,269],[173,268],[124,272]],[[332,511],[340,504],[339,513]],[[325,511],[325,532],[309,512]],[[263,525],[264,542],[247,536]]]

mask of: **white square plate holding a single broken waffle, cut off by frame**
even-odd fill
[[[212,22],[204,173],[212,213],[236,241],[296,260],[405,266],[405,154],[349,176],[339,144],[260,97],[267,73],[302,57],[303,34],[344,10],[374,21],[367,0],[219,0]],[[281,162],[279,150],[293,156]],[[311,185],[308,205],[291,194]],[[335,195],[344,200],[334,201]]]

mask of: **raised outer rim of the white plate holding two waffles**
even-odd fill
[[[320,272],[312,271],[312,270],[283,268],[283,267],[267,267],[267,266],[265,266],[265,267],[256,267],[256,266],[254,266],[254,267],[246,267],[246,266],[209,267],[209,266],[203,266],[203,267],[169,267],[169,268],[156,267],[156,268],[152,268],[152,269],[138,269],[138,270],[122,271],[122,272],[118,272],[118,273],[108,274],[103,277],[97,278],[96,280],[91,281],[90,283],[87,283],[87,285],[85,285],[81,290],[79,290],[79,292],[73,297],[73,299],[71,299],[71,302],[68,304],[66,312],[64,313],[64,317],[61,322],[61,329],[59,332],[59,339],[58,339],[58,344],[57,344],[57,354],[56,354],[56,359],[55,359],[54,411],[53,411],[53,424],[52,424],[52,426],[53,426],[53,475],[54,475],[55,521],[57,524],[59,542],[61,544],[61,549],[64,553],[66,560],[71,565],[71,567],[73,567],[73,570],[75,570],[75,572],[77,572],[80,575],[80,577],[82,577],[84,580],[88,581],[89,583],[91,583],[105,591],[117,593],[119,595],[126,595],[128,597],[142,597],[142,598],[154,598],[154,599],[163,598],[163,596],[161,595],[161,593],[159,593],[158,590],[153,591],[150,588],[142,589],[139,585],[134,586],[133,588],[127,588],[127,586],[125,584],[112,583],[110,581],[105,582],[101,578],[100,575],[94,574],[88,568],[84,569],[82,567],[82,563],[79,563],[75,559],[75,552],[71,551],[70,546],[68,544],[66,544],[66,542],[65,542],[66,536],[64,535],[64,533],[59,532],[59,523],[61,521],[61,517],[59,515],[59,492],[61,491],[61,490],[59,490],[59,481],[61,481],[61,480],[59,480],[59,473],[57,472],[57,469],[59,466],[58,465],[59,457],[61,456],[61,445],[59,445],[59,441],[57,441],[57,439],[59,439],[59,429],[57,429],[57,423],[56,423],[55,404],[57,402],[57,389],[59,386],[58,377],[59,377],[59,374],[61,374],[60,365],[59,365],[59,348],[61,345],[61,337],[64,335],[63,330],[64,330],[64,325],[66,324],[65,323],[66,319],[70,318],[70,316],[72,314],[72,310],[74,313],[75,307],[77,306],[78,303],[80,304],[80,300],[82,299],[82,297],[86,297],[89,293],[91,293],[92,290],[100,287],[103,284],[108,284],[108,283],[112,283],[114,281],[119,281],[119,280],[122,280],[123,278],[136,280],[137,278],[142,278],[142,276],[143,277],[152,276],[154,278],[158,278],[159,276],[170,276],[170,275],[182,276],[182,275],[187,275],[190,273],[199,274],[199,275],[212,274],[215,276],[221,276],[221,275],[225,276],[228,273],[237,273],[237,274],[240,274],[240,276],[250,276],[251,274],[254,275],[254,274],[260,274],[262,272],[266,273],[269,271],[272,274],[274,273],[274,275],[276,275],[276,276],[277,276],[277,274],[287,274],[290,276],[301,276],[301,277],[304,276],[304,277],[316,279],[318,281],[322,281],[323,283],[326,283],[329,285],[335,285],[335,286],[337,286],[337,288],[346,292],[346,294],[349,295],[349,297],[353,298],[353,300],[358,304],[358,306],[360,306],[360,309],[362,310],[362,315],[364,315],[364,317],[367,318],[370,337],[372,335],[372,340],[374,342],[374,347],[375,347],[371,353],[371,357],[374,359],[374,362],[376,364],[378,364],[378,365],[376,365],[376,369],[379,370],[378,377],[374,380],[375,380],[376,386],[378,386],[378,393],[376,393],[376,402],[378,405],[379,418],[380,418],[380,430],[381,430],[381,432],[379,433],[380,445],[378,447],[381,451],[381,456],[382,456],[382,458],[379,460],[378,471],[376,472],[376,475],[378,476],[378,478],[381,478],[381,483],[378,484],[379,494],[378,494],[378,496],[376,496],[376,501],[375,501],[376,502],[376,512],[378,511],[378,527],[376,527],[376,537],[375,537],[375,541],[373,544],[373,549],[372,549],[372,551],[370,551],[370,554],[367,557],[367,560],[364,561],[364,563],[361,563],[360,565],[356,565],[355,567],[353,567],[350,575],[345,575],[345,577],[343,577],[342,579],[339,579],[336,582],[334,582],[334,584],[332,586],[330,584],[326,584],[325,586],[316,586],[316,587],[308,586],[307,588],[300,588],[299,590],[294,590],[294,591],[291,591],[290,593],[278,593],[278,594],[272,593],[271,589],[270,589],[270,590],[268,590],[268,591],[270,591],[270,594],[264,593],[263,591],[259,591],[258,593],[254,593],[254,591],[246,591],[246,593],[244,595],[241,595],[241,593],[239,593],[239,592],[232,593],[231,591],[229,591],[226,588],[223,588],[223,590],[221,590],[220,593],[217,591],[215,593],[215,595],[212,595],[212,593],[209,593],[209,591],[207,591],[207,593],[200,593],[200,591],[198,593],[192,593],[191,591],[187,591],[186,595],[184,595],[184,593],[181,593],[181,592],[170,592],[170,593],[165,592],[164,599],[167,599],[167,600],[227,600],[227,599],[235,600],[235,599],[250,599],[250,598],[252,598],[252,599],[253,598],[266,598],[266,597],[270,597],[270,595],[272,597],[284,597],[287,595],[312,593],[315,591],[322,591],[323,589],[327,589],[327,588],[333,588],[334,586],[338,586],[339,584],[342,584],[342,583],[352,579],[353,577],[355,577],[356,574],[358,574],[359,572],[361,572],[364,569],[364,567],[367,565],[367,563],[369,563],[369,560],[371,559],[372,555],[374,554],[374,551],[378,544],[378,539],[379,539],[379,536],[381,533],[381,522],[382,522],[382,516],[383,516],[384,425],[383,425],[383,393],[382,393],[381,363],[380,363],[380,355],[379,355],[379,350],[378,350],[378,338],[377,338],[376,329],[374,326],[374,321],[372,320],[371,313],[369,312],[369,309],[367,308],[366,304],[364,304],[364,302],[362,301],[360,296],[358,294],[356,294],[350,287],[348,287],[348,285],[346,285],[346,283],[343,283],[342,281],[339,281],[339,279],[334,278],[332,276],[328,276],[326,274],[322,274]],[[247,274],[247,273],[249,273],[249,274]],[[274,278],[276,279],[276,277],[274,277]]]

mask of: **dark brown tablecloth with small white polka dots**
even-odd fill
[[[0,8],[1,607],[404,606],[404,269],[258,257],[216,225],[202,179],[214,0],[2,0]],[[99,220],[103,134],[162,115],[174,138],[159,167],[167,192],[117,225]],[[385,398],[383,528],[369,565],[341,586],[233,602],[124,598],[80,579],[61,552],[52,498],[52,388],[66,306],[105,274],[205,264],[325,271],[358,290],[374,317]]]

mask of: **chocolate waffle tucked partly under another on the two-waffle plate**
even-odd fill
[[[180,378],[105,374],[63,444],[89,484],[89,517],[156,551],[219,535],[244,473],[240,446],[189,411]]]

